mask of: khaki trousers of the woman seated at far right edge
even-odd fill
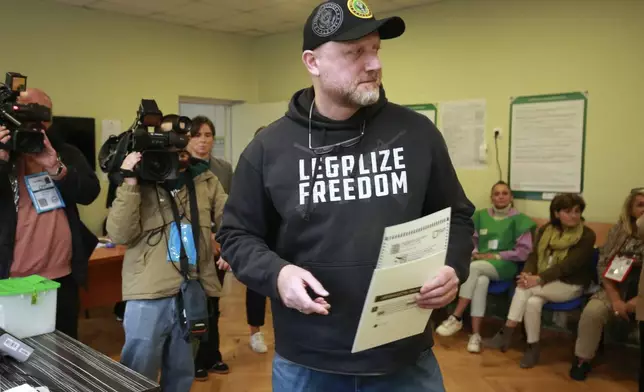
[[[613,316],[613,309],[604,290],[593,295],[581,312],[575,355],[583,359],[593,359],[599,348],[604,326]]]

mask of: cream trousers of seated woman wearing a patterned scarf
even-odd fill
[[[558,280],[543,286],[517,290],[512,297],[508,320],[522,322],[525,325],[528,343],[539,341],[541,333],[541,310],[546,302],[569,301],[582,294],[583,287],[560,282]]]

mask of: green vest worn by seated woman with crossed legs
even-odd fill
[[[479,235],[479,253],[499,253],[514,249],[516,241],[537,225],[527,215],[519,213],[503,219],[494,219],[488,209],[478,210],[472,217]],[[512,279],[517,274],[517,264],[508,260],[487,260],[499,274],[499,279]]]

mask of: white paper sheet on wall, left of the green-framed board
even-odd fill
[[[487,166],[485,151],[485,100],[442,102],[440,130],[454,167],[481,169]]]

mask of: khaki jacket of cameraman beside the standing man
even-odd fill
[[[227,195],[210,171],[194,178],[199,205],[199,279],[210,297],[221,295],[213,257],[211,222],[219,228]],[[179,263],[168,262],[167,239],[174,221],[168,193],[153,185],[122,184],[107,217],[107,232],[116,244],[126,245],[123,260],[123,300],[171,297],[179,292],[183,277]],[[183,222],[189,223],[188,190],[175,196]],[[164,234],[165,233],[165,234]],[[175,268],[176,267],[176,268]],[[195,269],[192,269],[195,276]]]

